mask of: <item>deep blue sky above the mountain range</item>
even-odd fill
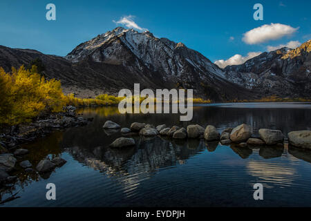
[[[56,21],[46,20],[48,3],[56,6]],[[263,21],[253,19],[255,3],[263,5]],[[182,42],[213,62],[236,54],[243,59],[249,52],[267,51],[268,46],[311,39],[310,8],[311,1],[305,0],[1,0],[0,45],[64,56],[78,44],[122,26],[113,21],[128,17],[156,37]],[[263,25],[269,28],[271,23],[292,29],[277,39],[267,37],[255,44],[243,41],[246,32]]]

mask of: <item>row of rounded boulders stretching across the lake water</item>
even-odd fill
[[[274,145],[283,144],[285,136],[282,131],[271,130],[267,128],[259,129],[259,137],[252,137],[252,127],[247,124],[241,124],[235,128],[226,128],[221,134],[218,133],[215,126],[207,125],[206,128],[198,124],[192,124],[187,128],[179,126],[167,127],[166,124],[153,126],[152,124],[144,124],[134,122],[130,128],[121,128],[115,122],[106,121],[104,129],[120,130],[122,135],[143,135],[143,136],[169,136],[173,139],[188,138],[204,138],[207,142],[220,140],[221,144],[237,143],[240,146],[247,145]],[[111,144],[112,147],[131,146],[135,144],[132,138],[120,137]],[[311,131],[292,131],[288,133],[290,144],[303,148],[311,148]]]

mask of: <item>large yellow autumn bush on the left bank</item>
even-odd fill
[[[60,81],[46,80],[36,66],[6,73],[0,68],[0,124],[30,122],[43,111],[62,111],[66,105]]]

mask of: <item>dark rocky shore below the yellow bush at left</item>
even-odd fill
[[[48,177],[56,167],[66,163],[60,157],[41,160],[37,166],[27,160],[29,151],[20,148],[21,144],[32,142],[39,137],[68,127],[84,126],[93,119],[86,119],[77,115],[74,106],[64,107],[64,112],[38,117],[30,124],[20,124],[10,128],[4,128],[0,133],[0,187],[10,186],[17,177],[10,175],[19,165],[28,173],[39,173],[41,177]]]

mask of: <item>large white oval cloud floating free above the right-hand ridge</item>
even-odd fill
[[[259,44],[269,40],[280,39],[285,35],[291,35],[296,30],[298,28],[292,28],[281,23],[271,23],[270,25],[263,25],[244,33],[243,41],[246,44]]]

